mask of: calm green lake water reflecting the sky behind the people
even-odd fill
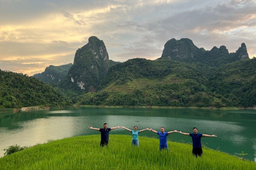
[[[152,109],[152,108],[76,108],[71,110],[38,110],[17,113],[0,113],[0,156],[2,149],[18,144],[32,146],[47,140],[56,140],[73,136],[100,134],[89,129],[90,126],[102,128],[124,126],[133,129],[152,128],[160,131],[182,131],[215,134],[217,137],[201,139],[208,148],[227,152],[231,155],[244,151],[246,159],[256,162],[256,111],[255,110],[202,110],[202,109]],[[128,134],[123,128],[115,129],[111,134]],[[139,136],[156,137],[151,131]],[[191,137],[172,133],[167,137],[172,141],[192,142]],[[109,139],[111,142],[111,136]],[[98,141],[100,143],[100,138]],[[130,141],[128,142],[130,144]],[[170,146],[169,146],[170,147]],[[158,148],[155,148],[158,149]],[[192,152],[192,146],[191,146]]]

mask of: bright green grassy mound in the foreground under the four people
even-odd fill
[[[226,153],[203,148],[195,158],[190,144],[168,141],[169,152],[158,151],[159,140],[140,136],[140,147],[131,147],[131,135],[110,135],[109,145],[100,148],[100,135],[77,136],[38,144],[0,158],[2,170],[17,169],[256,169]]]

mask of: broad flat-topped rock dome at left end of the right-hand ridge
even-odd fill
[[[179,61],[192,61],[199,51],[200,49],[188,38],[180,40],[172,38],[165,43],[161,57]]]

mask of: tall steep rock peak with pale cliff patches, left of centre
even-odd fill
[[[73,66],[68,73],[69,83],[80,90],[94,92],[108,68],[106,46],[102,40],[92,36],[85,46],[76,51]]]

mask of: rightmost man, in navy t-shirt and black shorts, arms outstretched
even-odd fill
[[[193,128],[193,132],[194,133],[182,133],[181,131],[179,131],[179,133],[181,133],[181,134],[191,136],[192,143],[193,143],[192,153],[193,153],[193,155],[195,155],[197,157],[197,156],[201,156],[203,154],[203,150],[202,150],[202,146],[201,146],[201,137],[217,137],[217,136],[215,136],[214,134],[208,135],[208,134],[197,133],[196,127]]]

